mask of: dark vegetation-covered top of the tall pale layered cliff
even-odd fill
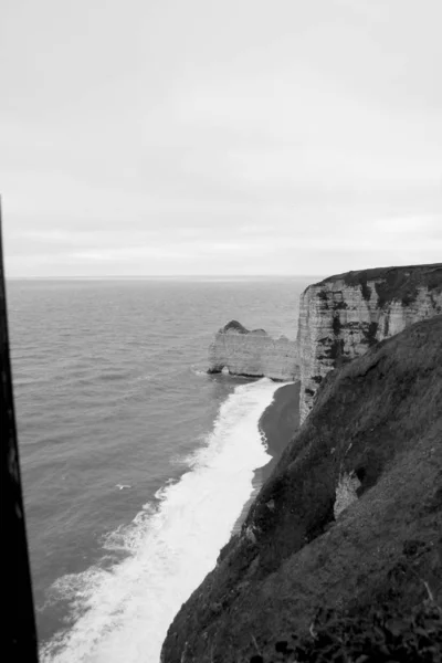
[[[315,285],[328,284],[334,281],[343,281],[346,286],[361,286],[366,299],[370,299],[367,282],[376,282],[378,306],[383,306],[392,301],[399,301],[407,305],[415,299],[420,287],[438,292],[442,290],[442,263],[358,270],[328,276]]]

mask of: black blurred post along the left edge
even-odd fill
[[[1,202],[0,202],[1,204]],[[8,320],[1,243],[0,209],[0,441],[2,559],[2,660],[38,661],[24,511],[20,483],[19,450],[9,357]]]

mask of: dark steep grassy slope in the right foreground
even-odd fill
[[[323,379],[162,663],[440,661],[442,316],[367,346]]]

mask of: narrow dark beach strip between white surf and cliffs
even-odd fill
[[[301,382],[282,385],[276,389],[273,401],[261,414],[259,428],[265,438],[267,453],[272,459],[262,467],[256,467],[252,480],[252,493],[241,509],[241,514],[232,528],[232,534],[239,534],[244,523],[250,505],[256,497],[261,486],[272,474],[274,466],[284,449],[299,429],[299,388]]]

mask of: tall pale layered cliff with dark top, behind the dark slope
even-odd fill
[[[442,264],[348,272],[299,303],[301,421],[324,377],[418,320],[442,313]]]

